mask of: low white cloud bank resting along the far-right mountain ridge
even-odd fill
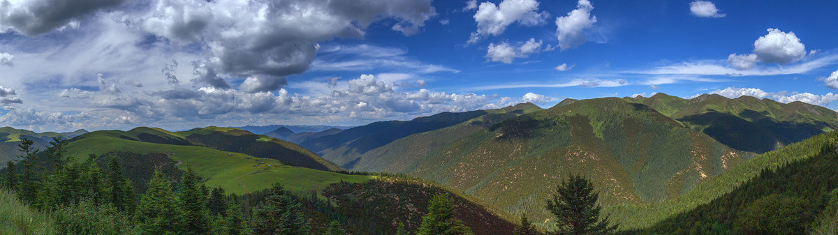
[[[804,103],[808,103],[811,105],[820,105],[825,106],[829,105],[832,102],[838,100],[838,95],[833,93],[827,93],[825,95],[814,95],[811,93],[789,93],[789,92],[766,92],[763,89],[757,88],[736,88],[736,87],[728,87],[726,89],[716,89],[711,91],[710,94],[717,94],[722,95],[727,98],[737,98],[742,95],[753,96],[758,99],[768,98],[771,100],[776,100],[780,103],[791,103],[794,101],[800,101]],[[697,96],[697,95],[696,95]]]

